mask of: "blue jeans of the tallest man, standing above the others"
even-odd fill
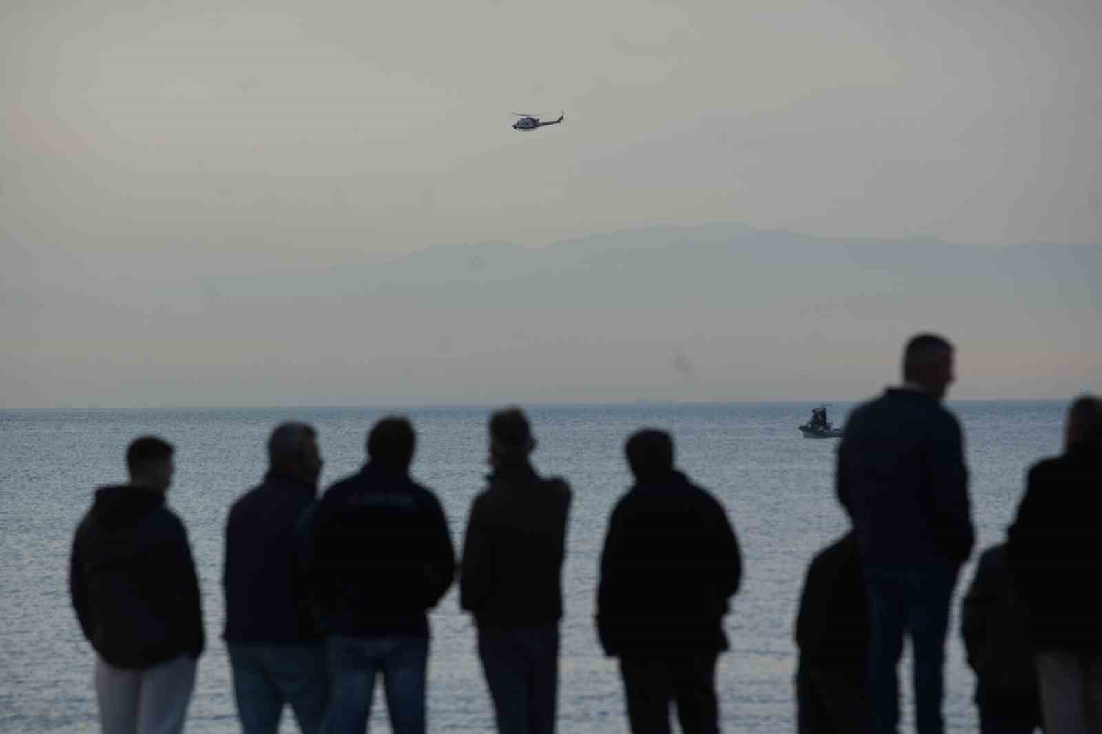
[[[866,563],[868,614],[868,697],[872,734],[896,734],[899,724],[899,680],[903,636],[914,656],[915,727],[919,734],[942,734],[942,669],[949,605],[960,564],[925,561],[907,564]]]

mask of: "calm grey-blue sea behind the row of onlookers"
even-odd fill
[[[1060,449],[1065,403],[958,402],[966,436],[979,548],[997,542],[1013,517],[1029,464]],[[575,490],[564,570],[565,618],[560,731],[626,732],[614,660],[592,624],[596,564],[608,512],[629,485],[625,438],[642,425],[673,432],[679,465],[727,508],[743,546],[743,591],[726,619],[732,649],[717,688],[726,732],[795,731],[792,623],[811,555],[844,531],[833,495],[835,441],[801,438],[809,403],[538,407],[529,410],[537,467]],[[851,408],[835,403],[841,419]],[[395,411],[386,411],[395,412]],[[480,408],[413,408],[418,454],[412,473],[439,494],[452,536],[462,541],[472,497],[485,475]],[[169,501],[187,526],[199,570],[207,651],[199,662],[188,727],[239,731],[225,647],[220,572],[230,503],[264,472],[264,441],[283,420],[320,432],[323,486],[356,471],[371,409],[0,411],[0,730],[93,732],[93,655],[69,606],[67,563],[74,528],[96,485],[125,479],[123,452],[141,433],[176,445]],[[954,602],[947,666],[951,731],[974,731],[973,679],[959,641]],[[429,671],[432,731],[493,728],[471,619],[450,592],[432,614]],[[906,665],[906,661],[905,661]],[[909,673],[903,669],[903,680]],[[907,721],[909,721],[909,699]],[[376,697],[371,728],[389,732]],[[295,731],[284,719],[282,731]]]

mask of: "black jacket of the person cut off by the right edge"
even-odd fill
[[[1102,446],[1029,471],[1009,529],[1014,584],[1038,650],[1102,655]]]

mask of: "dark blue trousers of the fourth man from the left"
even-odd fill
[[[499,734],[553,734],[559,625],[479,629],[478,657]]]

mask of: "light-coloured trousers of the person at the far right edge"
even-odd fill
[[[1039,652],[1046,734],[1102,734],[1102,657]]]

